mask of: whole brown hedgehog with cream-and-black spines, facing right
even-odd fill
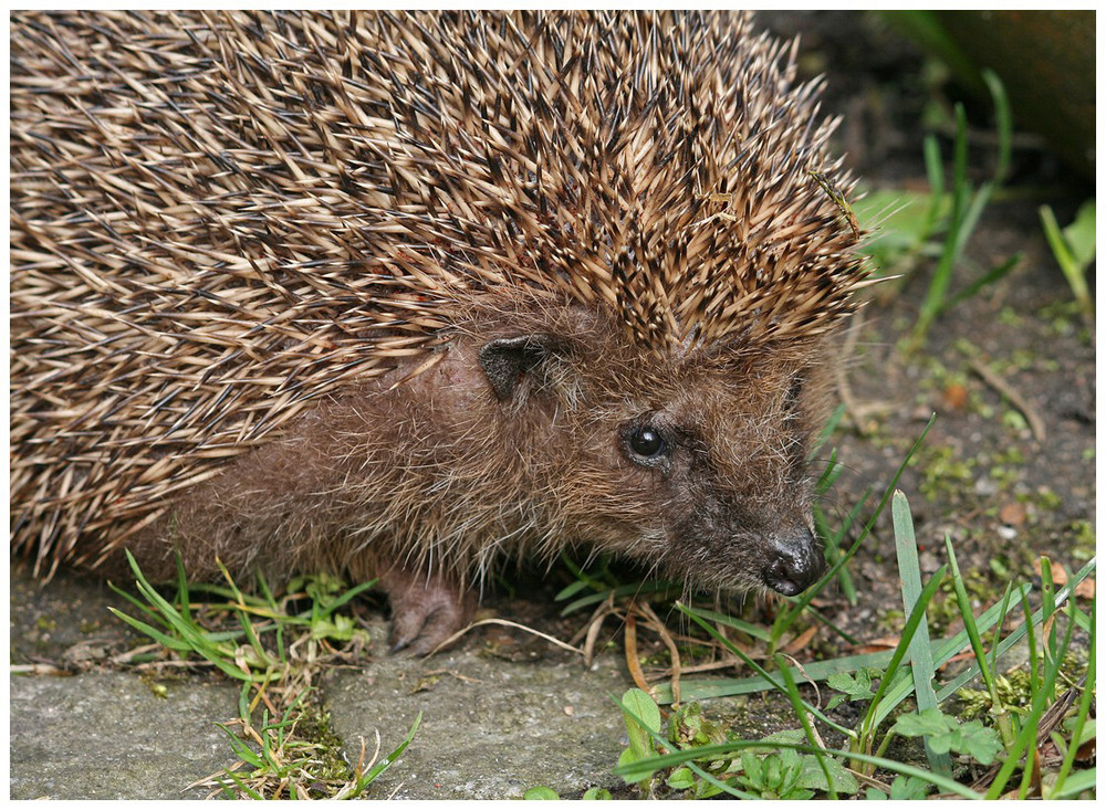
[[[375,579],[413,652],[577,547],[807,588],[870,281],[795,52],[724,13],[14,13],[13,555]]]

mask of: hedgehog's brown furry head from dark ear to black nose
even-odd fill
[[[816,367],[571,343],[530,334],[480,353],[497,397],[514,406],[504,418],[531,425],[519,452],[551,525],[700,587],[791,596],[813,583]]]

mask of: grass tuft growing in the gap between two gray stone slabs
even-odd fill
[[[346,588],[333,577],[305,577],[278,600],[263,578],[259,593],[250,595],[226,569],[225,586],[189,585],[178,558],[177,591],[167,599],[129,553],[127,561],[138,596],[112,588],[137,617],[109,608],[112,613],[168,655],[210,665],[241,684],[238,717],[216,724],[237,761],[198,783],[231,799],[353,799],[410,745],[421,716],[383,758],[377,734],[371,757],[362,740],[357,762],[346,764],[338,741],[325,732],[310,685],[321,667],[367,645],[367,632],[342,608],[372,582]],[[197,593],[208,601],[195,601]]]

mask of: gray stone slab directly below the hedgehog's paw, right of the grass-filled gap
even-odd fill
[[[436,675],[424,691],[427,671]],[[461,652],[343,673],[326,698],[351,759],[361,736],[372,747],[374,729],[390,750],[422,712],[417,744],[374,783],[377,796],[511,799],[535,785],[563,796],[620,786],[611,769],[625,727],[608,694],[626,687],[612,658],[585,671],[577,661],[512,663]]]

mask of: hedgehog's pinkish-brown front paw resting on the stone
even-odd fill
[[[460,630],[474,608],[470,593],[441,576],[393,569],[380,577],[392,603],[392,652],[426,655]]]

